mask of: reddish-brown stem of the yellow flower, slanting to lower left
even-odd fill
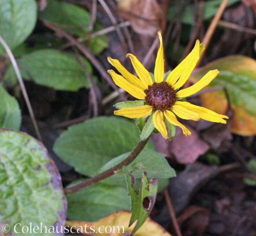
[[[110,169],[107,169],[106,171],[100,173],[97,176],[94,176],[94,177],[92,177],[88,180],[80,182],[80,183],[78,183],[78,184],[76,184],[72,187],[66,188],[65,189],[66,195],[73,194],[74,192],[76,192],[76,191],[78,191],[82,188],[93,185],[93,184],[95,184],[95,183],[97,183],[97,182],[99,182],[99,181],[101,181],[105,178],[108,178],[108,177],[114,175],[116,173],[116,171],[120,170],[124,165],[130,164],[140,154],[140,152],[142,151],[142,149],[146,145],[148,139],[149,138],[147,138],[146,140],[140,141],[138,143],[138,145],[134,148],[133,152],[128,157],[126,157],[123,161],[121,161],[119,164],[113,166]]]

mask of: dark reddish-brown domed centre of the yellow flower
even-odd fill
[[[152,105],[154,110],[168,110],[177,100],[175,90],[166,82],[148,85],[144,92],[147,104]]]

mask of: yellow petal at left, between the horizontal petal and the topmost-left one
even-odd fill
[[[135,85],[128,82],[126,79],[124,79],[121,75],[118,75],[113,70],[108,70],[108,73],[110,73],[112,79],[114,80],[115,84],[125,90],[127,93],[130,93],[132,96],[138,98],[138,99],[144,99],[146,94],[142,89],[139,89]]]

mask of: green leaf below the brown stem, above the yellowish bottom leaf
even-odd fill
[[[97,221],[111,212],[130,209],[127,190],[101,183],[83,188],[68,199],[68,218],[78,221]]]

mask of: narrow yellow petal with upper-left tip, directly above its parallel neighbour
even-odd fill
[[[115,67],[120,73],[121,75],[127,79],[130,83],[132,83],[133,85],[137,86],[138,88],[142,89],[143,91],[145,89],[147,89],[147,84],[143,83],[142,81],[140,81],[135,75],[133,75],[132,73],[130,73],[129,71],[127,71],[122,64],[120,63],[119,60],[117,59],[112,59],[111,57],[108,57],[108,61],[111,63],[111,65],[113,67]]]

